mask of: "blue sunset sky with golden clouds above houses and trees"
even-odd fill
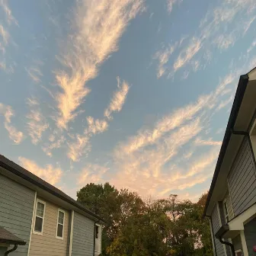
[[[209,190],[254,0],[0,0],[0,154],[71,197]]]

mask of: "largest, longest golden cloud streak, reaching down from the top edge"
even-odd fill
[[[56,95],[59,127],[66,128],[78,114],[78,107],[90,92],[86,83],[97,75],[101,63],[117,51],[123,31],[142,9],[142,0],[83,0],[78,3],[72,18],[75,33],[59,56],[67,71],[56,72],[56,82],[61,88]]]

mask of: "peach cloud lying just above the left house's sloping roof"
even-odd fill
[[[63,171],[59,167],[55,168],[53,167],[53,165],[46,165],[45,167],[40,167],[33,160],[21,156],[18,158],[18,160],[25,169],[39,176],[44,181],[47,181],[52,185],[58,184],[60,179],[62,178]]]

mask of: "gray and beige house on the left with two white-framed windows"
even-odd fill
[[[0,256],[101,254],[104,221],[0,155]]]

